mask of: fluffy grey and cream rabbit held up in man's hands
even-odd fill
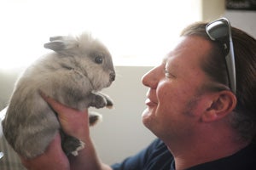
[[[3,133],[20,156],[33,158],[44,153],[55,133],[61,129],[55,111],[40,92],[80,111],[94,106],[112,106],[102,88],[115,78],[111,54],[102,42],[83,33],[78,37],[51,37],[44,48],[54,52],[29,66],[15,84],[15,90],[3,120]],[[90,113],[90,124],[100,117]],[[63,135],[62,148],[77,155],[84,144]]]

